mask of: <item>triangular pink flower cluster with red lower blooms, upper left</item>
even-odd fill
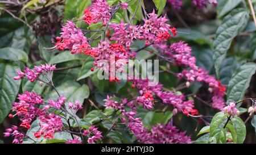
[[[57,43],[55,47],[59,51],[64,49],[71,49],[72,54],[86,53],[92,55],[90,52],[91,48],[87,42],[84,33],[80,28],[76,28],[75,23],[67,21],[67,23],[61,28],[61,36],[56,37]]]

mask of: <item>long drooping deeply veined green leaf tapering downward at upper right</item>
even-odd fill
[[[237,36],[237,33],[242,31],[248,22],[249,12],[245,9],[236,9],[225,16],[224,20],[216,32],[214,40],[213,61],[215,62],[216,74],[219,76],[219,69],[222,60],[226,57],[226,52],[230,48],[232,40]]]

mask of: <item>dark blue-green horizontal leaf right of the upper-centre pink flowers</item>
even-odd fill
[[[212,40],[210,40],[207,36],[205,36],[203,33],[196,31],[196,30],[190,30],[186,28],[177,28],[177,38],[183,39],[187,41],[194,41],[197,44],[203,45],[208,44],[212,45]]]

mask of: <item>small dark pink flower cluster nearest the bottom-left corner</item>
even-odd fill
[[[7,128],[3,133],[4,137],[14,136],[13,144],[23,143],[24,134],[18,131],[18,127],[12,125],[11,128]]]

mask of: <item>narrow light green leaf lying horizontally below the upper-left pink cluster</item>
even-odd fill
[[[67,62],[72,60],[85,60],[85,58],[85,55],[72,55],[69,51],[63,51],[58,55],[53,56],[49,61],[49,64],[59,64],[61,62]]]

